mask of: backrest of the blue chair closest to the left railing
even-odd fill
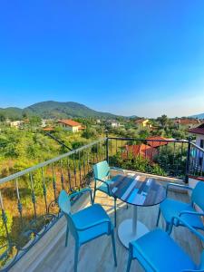
[[[58,204],[67,219],[68,228],[72,232],[73,237],[78,238],[77,230],[75,228],[73,218],[72,218],[70,197],[64,189],[60,192],[60,195],[58,198]]]

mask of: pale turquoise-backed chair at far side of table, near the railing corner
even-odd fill
[[[96,164],[93,165],[93,178],[94,178],[94,192],[93,192],[93,202],[95,201],[95,195],[96,191],[100,190],[103,193],[107,194],[109,197],[113,197],[114,199],[114,225],[116,227],[116,201],[117,198],[115,198],[112,195],[112,192],[109,188],[112,179],[110,178],[110,171],[111,170],[118,170],[124,173],[123,170],[116,167],[110,167],[107,160],[102,160]],[[102,184],[100,184],[102,183]],[[97,185],[98,184],[98,185]]]

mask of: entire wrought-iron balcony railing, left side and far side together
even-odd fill
[[[57,198],[89,185],[92,165],[188,181],[203,176],[204,150],[192,141],[106,137],[0,179],[0,271],[7,271],[61,218]]]

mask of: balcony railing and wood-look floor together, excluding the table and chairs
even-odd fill
[[[73,271],[73,239],[69,238],[65,248],[66,222],[58,209],[57,197],[61,189],[72,193],[87,186],[92,188],[92,165],[98,161],[107,159],[113,166],[123,167],[126,175],[150,177],[154,174],[153,177],[163,186],[167,182],[188,182],[189,176],[202,179],[199,158],[203,158],[204,152],[194,143],[151,142],[154,146],[157,143],[156,151],[150,151],[148,146],[151,144],[146,140],[106,138],[1,179],[0,206],[4,228],[0,248],[1,271]],[[141,144],[144,145],[141,153],[134,153],[133,148],[128,147]],[[170,190],[170,197],[189,202],[189,195],[184,191]],[[113,219],[112,199],[98,193],[96,202],[101,203]],[[82,198],[74,199],[73,210],[88,204],[84,194]],[[119,224],[132,217],[132,208],[126,209],[120,200],[117,204]],[[157,214],[158,206],[139,209],[139,219],[149,229],[155,228]],[[162,219],[160,228],[164,228]],[[199,239],[181,227],[176,228],[172,236],[198,263],[202,250]],[[79,271],[84,271],[84,267],[90,271],[125,271],[128,250],[121,245],[117,228],[115,238],[118,267],[113,266],[110,238],[102,237],[81,248]],[[142,271],[134,261],[131,271],[136,269]]]

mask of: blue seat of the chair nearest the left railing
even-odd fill
[[[92,206],[82,209],[78,211],[77,213],[73,214],[73,222],[76,228],[83,228],[87,225],[96,223],[102,219],[110,220],[105,210],[102,209],[102,206],[99,204],[93,204]],[[113,226],[112,226],[112,229],[113,229]],[[108,235],[109,234],[108,224],[102,223],[98,226],[88,228],[87,230],[78,231],[78,234],[79,234],[79,243],[82,245],[92,240],[93,238],[100,237],[104,234]]]

